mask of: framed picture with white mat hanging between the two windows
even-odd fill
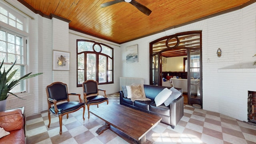
[[[52,50],[52,70],[70,70],[70,52]]]

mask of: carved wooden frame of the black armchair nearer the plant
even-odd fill
[[[49,89],[51,86],[54,86],[55,84],[60,84],[62,86],[66,87],[66,99],[61,99],[61,100],[56,100],[54,98],[51,98],[51,94],[49,92]],[[48,128],[50,128],[50,123],[51,123],[51,118],[50,118],[50,113],[52,113],[54,116],[58,116],[59,117],[59,122],[60,122],[60,135],[62,134],[62,117],[66,114],[67,118],[68,118],[68,114],[72,113],[72,112],[76,112],[77,110],[79,110],[80,108],[83,108],[83,120],[85,120],[84,118],[84,111],[85,111],[85,105],[84,102],[81,99],[81,95],[80,94],[75,94],[75,93],[68,93],[68,87],[67,84],[64,84],[62,82],[53,82],[52,84],[46,86],[46,93],[47,93],[47,102],[48,102],[48,119],[49,119],[49,124],[48,124]],[[79,103],[78,102],[74,102],[74,103],[70,103],[69,100],[69,96],[78,96],[79,98]],[[66,101],[66,102],[65,102]],[[62,102],[58,108],[58,103]],[[65,104],[67,106],[67,110],[65,109]],[[70,108],[72,106],[74,106],[76,104],[76,108]],[[52,107],[53,105],[53,107]],[[54,111],[50,110],[50,109],[54,108]]]

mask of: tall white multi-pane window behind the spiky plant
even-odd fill
[[[0,62],[4,60],[4,66],[1,71],[9,69],[15,60],[16,64],[12,70],[18,69],[13,76],[18,79],[26,73],[26,32],[24,32],[23,16],[15,11],[8,10],[4,6],[0,6]],[[20,34],[23,32],[23,34]],[[9,72],[10,74],[11,72]],[[10,80],[12,81],[12,80]],[[18,94],[26,91],[26,81],[23,80],[15,86],[11,92]]]

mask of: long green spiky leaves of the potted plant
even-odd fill
[[[0,70],[3,66],[3,64],[4,64],[4,60],[2,61],[1,65],[0,65]],[[30,72],[29,74],[26,74],[17,80],[12,80],[12,77],[14,76],[14,74],[17,72],[18,69],[14,70],[9,75],[8,75],[8,73],[10,72],[10,70],[12,70],[12,68],[15,64],[16,64],[16,60],[7,71],[5,70],[5,68],[4,68],[3,72],[0,71],[0,100],[6,100],[6,98],[8,97],[8,94],[12,94],[12,95],[16,96],[17,98],[20,98],[16,94],[13,94],[12,92],[10,92],[10,90],[12,90],[12,88],[17,86],[18,84],[20,84],[20,81],[26,80],[28,78],[33,78],[35,76],[42,74],[42,73],[38,73],[38,74],[30,75],[32,73],[32,72]],[[10,80],[12,80],[12,81],[9,82]]]

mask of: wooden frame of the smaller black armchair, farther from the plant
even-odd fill
[[[85,84],[86,83],[94,83],[96,84],[96,90],[95,92],[86,92],[86,88],[85,88]],[[106,90],[103,89],[98,89],[98,82],[95,80],[86,80],[85,82],[83,82],[82,84],[83,86],[83,94],[84,94],[84,103],[87,105],[87,109],[88,109],[88,119],[90,118],[90,105],[97,105],[97,108],[99,107],[98,104],[102,103],[102,102],[107,102],[108,104],[108,98],[106,95]],[[94,87],[95,88],[95,87]],[[104,98],[101,98],[99,95],[99,91],[104,92]],[[90,97],[93,97],[92,99]]]

